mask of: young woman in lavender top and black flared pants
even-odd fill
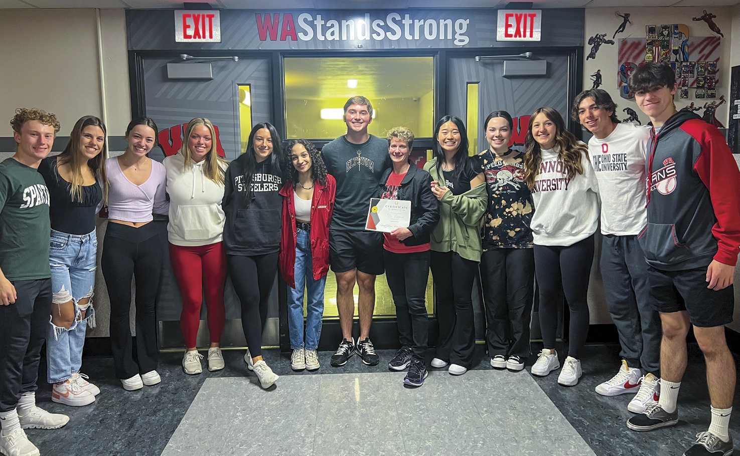
[[[127,391],[158,384],[159,350],[155,299],[161,278],[162,239],[152,222],[167,214],[164,166],[147,157],[157,145],[157,124],[131,120],[124,154],[105,161],[109,181],[108,225],[101,267],[110,296],[110,344],[115,375]],[[136,278],[136,355],[129,310]]]

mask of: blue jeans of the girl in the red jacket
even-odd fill
[[[295,246],[295,289],[288,287],[288,327],[290,347],[316,350],[321,336],[323,288],[326,276],[314,280],[311,261],[311,236],[298,228]],[[306,304],[306,343],[303,343],[303,290],[308,290]]]

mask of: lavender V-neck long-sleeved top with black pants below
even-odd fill
[[[118,158],[105,160],[108,175],[108,218],[123,222],[151,222],[152,212],[167,214],[169,203],[165,197],[167,184],[164,166],[152,160],[152,173],[149,179],[134,185],[121,171]]]

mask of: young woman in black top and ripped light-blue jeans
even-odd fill
[[[106,129],[87,115],[70,133],[70,142],[56,157],[41,160],[38,172],[49,189],[51,239],[49,262],[53,290],[47,336],[47,381],[51,400],[60,404],[92,404],[100,389],[80,373],[87,327],[95,327],[92,294],[98,238],[95,214],[107,188]]]

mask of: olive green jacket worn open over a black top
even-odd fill
[[[424,170],[431,174],[432,180],[444,183],[445,177],[437,173],[436,165],[437,159],[433,158],[424,165]],[[485,183],[457,196],[448,191],[440,203],[440,222],[431,231],[431,250],[454,251],[462,258],[480,262],[480,229],[488,206]]]

